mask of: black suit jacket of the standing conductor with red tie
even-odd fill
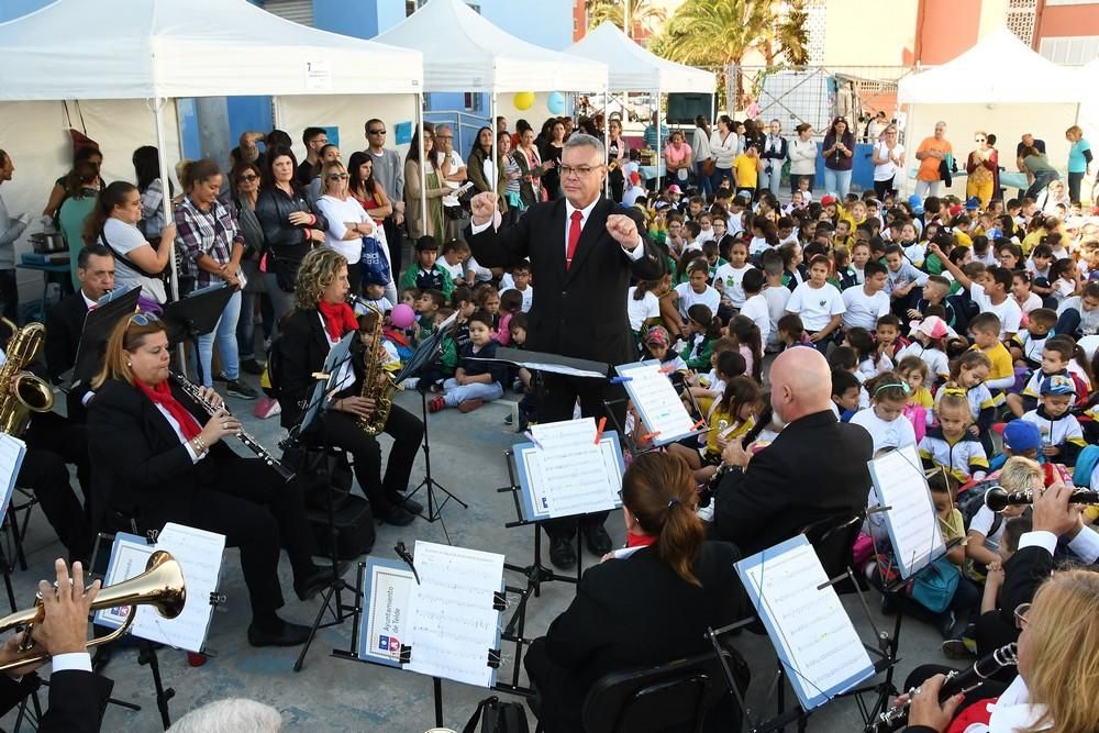
[[[645,236],[637,211],[600,199],[591,210],[573,266],[565,269],[565,200],[535,204],[514,226],[479,234],[466,230],[474,257],[485,267],[531,260],[534,302],[528,313],[526,348],[608,364],[636,360],[626,313],[631,279],[656,280],[667,271],[659,249]],[[633,262],[607,232],[607,216],[637,222],[645,253]]]

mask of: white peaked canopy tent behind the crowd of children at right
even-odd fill
[[[946,121],[955,145],[965,145],[976,130],[995,132],[1000,165],[1008,169],[1014,169],[1014,144],[1032,132],[1046,141],[1046,154],[1058,165],[1068,155],[1064,131],[1076,122],[1086,90],[1078,70],[1044,58],[1006,27],[993,31],[946,64],[898,84],[897,103],[909,107],[908,166],[922,140],[918,116],[928,135],[932,121]],[[954,151],[959,169],[968,149]]]

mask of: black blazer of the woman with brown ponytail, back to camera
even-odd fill
[[[567,700],[560,702],[578,711],[603,675],[704,652],[707,626],[732,623],[745,608],[733,570],[739,559],[728,543],[704,543],[693,567],[701,588],[676,575],[655,547],[589,568],[546,633],[546,655],[571,673],[569,689],[556,690]]]

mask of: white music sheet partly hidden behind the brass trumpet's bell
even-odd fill
[[[131,626],[132,633],[151,642],[160,642],[188,652],[201,652],[210,630],[213,606],[210,593],[218,590],[225,535],[168,522],[156,538],[156,549],[171,553],[184,570],[187,603],[175,619],[165,619],[156,609],[141,606]],[[144,571],[141,567],[138,573]],[[134,574],[137,575],[137,574]],[[242,589],[242,595],[246,591]],[[247,601],[241,599],[240,606]]]

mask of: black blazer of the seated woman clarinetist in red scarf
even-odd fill
[[[171,393],[200,425],[209,415],[171,384]],[[213,484],[219,466],[242,460],[223,442],[193,463],[171,425],[136,387],[116,379],[106,382],[88,403],[88,453],[91,456],[93,507],[141,518],[159,526],[186,518],[196,489]],[[92,529],[102,526],[102,513]]]

